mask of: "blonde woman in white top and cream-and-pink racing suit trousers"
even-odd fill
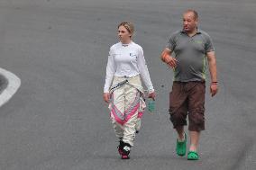
[[[118,152],[122,159],[129,159],[135,133],[140,129],[142,111],[145,108],[141,78],[148,88],[148,97],[155,100],[155,93],[143,49],[132,40],[133,23],[121,22],[117,28],[120,42],[114,44],[109,51],[104,101],[109,103],[114,132],[120,139]]]

